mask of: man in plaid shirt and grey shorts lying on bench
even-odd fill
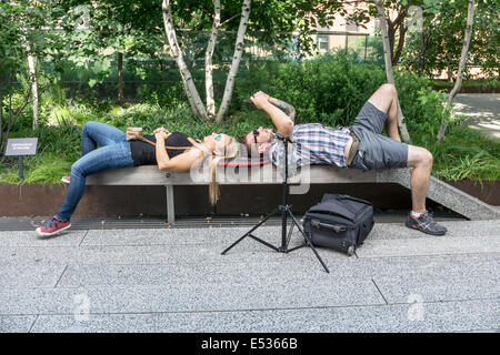
[[[399,138],[394,85],[381,85],[349,128],[333,129],[319,123],[294,125],[296,110],[292,105],[261,91],[250,100],[268,113],[279,134],[291,138],[290,165],[331,164],[362,171],[413,168],[410,181],[412,211],[406,225],[432,235],[447,232],[426,209],[432,154],[423,148],[401,143]],[[381,135],[384,126],[389,138]],[[283,144],[279,144],[272,129],[260,126],[248,133],[243,143],[249,151],[257,149],[261,154],[269,153],[272,163],[282,166]]]

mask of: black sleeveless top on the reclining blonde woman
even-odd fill
[[[157,142],[154,135],[144,135],[144,138],[153,143]],[[164,140],[166,146],[192,146],[188,140],[188,135],[181,132],[172,132],[168,139]],[[130,152],[132,153],[133,166],[138,165],[153,165],[157,164],[156,146],[143,141],[130,141]],[[182,154],[186,150],[167,149],[167,154],[170,159]]]

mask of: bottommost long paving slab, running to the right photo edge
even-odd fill
[[[500,301],[306,310],[42,315],[32,332],[473,332],[500,328]]]

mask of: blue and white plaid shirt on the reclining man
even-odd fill
[[[348,168],[344,149],[349,133],[347,128],[332,129],[320,123],[294,125],[293,144],[289,144],[289,166],[330,164]],[[284,165],[284,146],[277,138],[269,153],[274,165]]]

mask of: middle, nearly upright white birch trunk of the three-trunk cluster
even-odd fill
[[[204,88],[207,93],[207,113],[208,118],[212,120],[216,115],[216,101],[213,100],[213,50],[216,49],[217,34],[220,28],[220,0],[214,0],[214,18],[212,30],[210,32],[209,43],[204,53]]]

